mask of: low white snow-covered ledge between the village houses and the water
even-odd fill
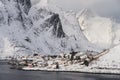
[[[99,74],[120,74],[120,70],[111,70],[111,69],[91,69],[91,68],[84,68],[84,69],[46,69],[46,68],[23,68],[24,71],[49,71],[49,72],[81,72],[81,73],[99,73]]]

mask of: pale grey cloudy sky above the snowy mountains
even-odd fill
[[[40,0],[31,0],[37,4]],[[90,8],[101,15],[118,16],[120,14],[120,0],[48,0],[50,4],[57,5],[64,10],[80,11]]]

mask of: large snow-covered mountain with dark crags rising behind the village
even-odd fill
[[[40,4],[0,0],[0,55],[101,51],[84,36],[76,14]]]

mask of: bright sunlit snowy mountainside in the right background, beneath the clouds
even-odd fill
[[[78,15],[79,24],[87,39],[103,48],[113,44],[113,22],[109,18],[100,17],[92,10],[84,9]]]

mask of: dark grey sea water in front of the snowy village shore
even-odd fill
[[[0,80],[120,80],[120,75],[19,71],[0,64]]]

